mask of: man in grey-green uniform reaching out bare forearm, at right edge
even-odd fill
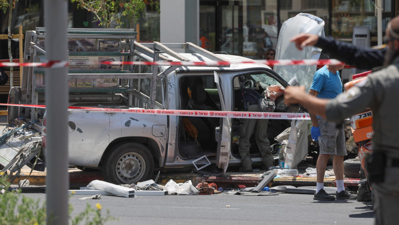
[[[396,224],[399,221],[399,17],[387,25],[385,54],[386,68],[371,73],[336,98],[327,100],[315,98],[304,92],[304,87],[287,87],[286,104],[301,104],[309,112],[320,115],[328,121],[343,119],[371,108],[373,113],[373,154],[367,164],[370,182],[375,193],[376,224]]]

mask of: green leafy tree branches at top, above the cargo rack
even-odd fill
[[[147,4],[159,12],[159,3],[156,0],[71,0],[71,2],[77,3],[78,8],[94,13],[93,22],[99,21],[100,26],[104,28],[109,28],[112,22],[116,22],[116,28],[124,25],[125,21],[135,24],[143,15]]]

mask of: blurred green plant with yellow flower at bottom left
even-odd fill
[[[6,181],[4,176],[0,177],[0,189],[6,190],[10,187],[10,183]],[[18,191],[6,191],[0,194],[0,225],[23,225],[23,224],[46,224],[46,202],[36,201],[25,195],[19,194]],[[101,225],[106,221],[114,219],[107,210],[105,217],[101,215],[101,205],[97,204],[96,208],[92,208],[87,204],[86,209],[79,213],[76,217],[70,218],[69,223],[72,225]],[[69,205],[69,214],[73,211],[72,205]]]

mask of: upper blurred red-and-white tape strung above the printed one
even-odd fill
[[[82,64],[82,61],[47,61],[47,62],[0,62],[0,67],[5,66],[30,66],[30,67],[45,67],[45,68],[61,68],[69,65],[89,65],[89,64],[106,64],[106,65],[159,65],[159,66],[223,66],[230,64],[265,64],[270,66],[275,65],[343,65],[344,62],[341,62],[337,59],[304,59],[304,60],[293,60],[293,59],[280,59],[280,60],[242,60],[242,61],[201,61],[201,62],[193,62],[193,61],[104,61],[104,62],[86,62]]]

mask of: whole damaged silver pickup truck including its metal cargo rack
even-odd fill
[[[324,22],[304,14],[308,21],[302,28],[321,32]],[[313,22],[313,24],[312,24]],[[312,26],[313,28],[312,28]],[[298,25],[297,25],[298,27]],[[288,84],[269,66],[239,63],[251,59],[214,54],[192,43],[137,43],[129,29],[70,29],[70,105],[114,109],[191,109],[242,111],[242,88],[262,94],[269,86]],[[95,35],[94,33],[102,33]],[[119,33],[118,33],[119,32]],[[130,34],[125,34],[123,32]],[[33,40],[26,43],[28,61],[39,61],[45,54],[44,29],[27,33]],[[105,32],[106,33],[106,32]],[[82,35],[85,36],[82,36]],[[92,35],[92,36],[91,36]],[[101,36],[101,38],[99,38]],[[280,39],[283,37],[280,36]],[[288,38],[285,38],[286,40]],[[27,41],[29,38],[27,38]],[[280,41],[280,40],[279,40]],[[172,49],[185,50],[178,53]],[[30,50],[30,52],[29,52]],[[282,49],[282,51],[284,51]],[[314,56],[311,50],[301,54]],[[101,61],[225,61],[224,66],[104,65]],[[98,62],[93,63],[93,62]],[[312,67],[314,72],[316,66]],[[295,67],[293,67],[295,70]],[[27,72],[23,87],[14,88],[10,103],[43,103],[43,72]],[[307,70],[309,72],[311,70]],[[314,73],[313,72],[313,73]],[[24,72],[25,73],[25,72]],[[29,84],[31,82],[31,84]],[[27,84],[28,83],[28,84]],[[275,99],[275,112],[287,112],[283,97]],[[12,107],[9,117],[43,115],[43,111]],[[290,126],[291,121],[269,120],[268,136],[274,138]],[[189,169],[216,164],[226,171],[241,163],[238,152],[239,119],[185,117],[183,115],[148,115],[91,110],[69,111],[69,163],[78,168],[98,168],[107,182],[131,184],[149,179],[156,168]],[[43,118],[43,145],[46,143],[46,115]],[[251,139],[251,158],[261,164],[261,156]],[[46,149],[51,151],[55,149]],[[206,157],[203,157],[203,156]]]

